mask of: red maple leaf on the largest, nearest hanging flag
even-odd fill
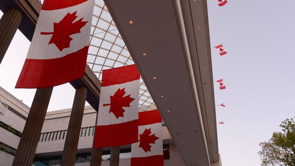
[[[88,22],[82,21],[83,18],[81,18],[73,23],[73,21],[78,17],[76,16],[76,13],[77,11],[73,12],[72,14],[69,12],[59,23],[53,22],[53,32],[40,33],[44,35],[52,34],[48,45],[53,43],[60,51],[62,51],[64,48],[70,47],[70,41],[73,40],[70,35],[81,33],[80,29]]]

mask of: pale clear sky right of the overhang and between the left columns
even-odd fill
[[[259,142],[267,141],[279,124],[295,116],[293,56],[295,1],[238,1],[219,7],[208,0],[211,45],[224,43],[222,57],[212,49],[219,153],[226,166],[258,166]],[[2,13],[0,13],[2,16]],[[30,42],[17,31],[0,65],[0,86],[31,106],[35,90],[14,89]],[[48,111],[71,108],[75,90],[54,87]]]

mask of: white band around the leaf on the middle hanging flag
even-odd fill
[[[130,107],[123,107],[125,110],[124,117],[117,119],[115,115],[110,111],[110,106],[103,106],[103,104],[109,104],[110,96],[114,96],[118,89],[125,88],[125,95],[130,95],[131,98],[135,99],[130,103]],[[128,83],[115,84],[111,86],[101,87],[101,96],[99,99],[99,112],[97,125],[112,125],[118,123],[129,122],[131,120],[138,119],[138,100],[139,100],[139,80],[131,81]],[[123,96],[123,97],[124,97]]]

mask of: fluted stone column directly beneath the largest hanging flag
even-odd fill
[[[37,89],[13,166],[32,165],[53,87]]]

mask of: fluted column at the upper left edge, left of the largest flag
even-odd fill
[[[11,8],[4,12],[0,19],[0,63],[11,43],[23,16],[17,9]]]

